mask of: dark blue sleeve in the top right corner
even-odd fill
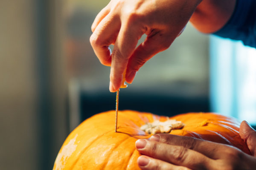
[[[230,20],[214,34],[256,48],[256,0],[236,0]]]

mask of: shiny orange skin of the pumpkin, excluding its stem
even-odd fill
[[[65,140],[53,170],[140,170],[135,148],[137,139],[151,135],[140,130],[146,122],[166,121],[166,116],[137,111],[119,111],[115,129],[115,111],[96,114],[86,119]],[[192,136],[237,147],[250,154],[239,136],[240,122],[215,113],[185,113],[170,117],[185,124],[170,134]]]

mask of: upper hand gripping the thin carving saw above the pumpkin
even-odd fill
[[[103,65],[111,66],[110,91],[131,83],[151,57],[166,50],[188,23],[201,0],[111,0],[96,16],[90,43]],[[147,37],[136,47],[140,37]],[[109,45],[113,44],[113,52]]]

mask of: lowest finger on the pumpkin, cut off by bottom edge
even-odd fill
[[[176,166],[148,156],[140,156],[137,161],[142,170],[190,170],[187,167]]]

